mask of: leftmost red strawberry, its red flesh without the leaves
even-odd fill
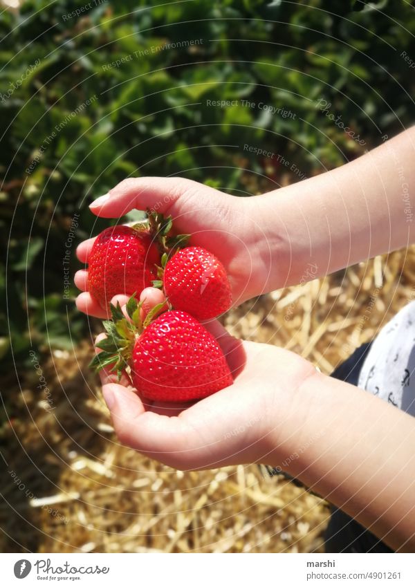
[[[88,268],[89,292],[106,309],[114,295],[132,295],[157,279],[158,245],[149,232],[129,226],[109,227],[98,236]]]

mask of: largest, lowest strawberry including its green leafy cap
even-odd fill
[[[163,306],[163,304],[160,304]],[[111,307],[113,320],[104,326],[108,337],[92,360],[97,369],[113,365],[120,376],[131,368],[131,380],[146,400],[187,402],[205,398],[232,384],[232,375],[216,339],[192,316],[170,310],[156,317],[156,306],[140,320],[141,304],[131,297],[128,322],[120,306]]]

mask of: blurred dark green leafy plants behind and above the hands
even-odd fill
[[[412,70],[400,57],[415,59],[413,3],[97,0],[68,16],[86,4],[30,0],[1,15],[6,358],[8,328],[18,357],[85,333],[73,304],[75,245],[107,225],[87,204],[124,177],[181,174],[242,195],[257,178],[262,189],[283,174],[298,179],[277,155],[310,176],[414,118]]]

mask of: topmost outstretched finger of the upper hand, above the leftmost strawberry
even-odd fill
[[[100,196],[89,207],[102,218],[120,218],[132,209],[154,209],[173,214],[179,199],[203,189],[199,183],[184,178],[143,177],[128,178]],[[205,188],[208,189],[208,188]]]

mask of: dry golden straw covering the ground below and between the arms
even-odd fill
[[[232,310],[232,333],[302,354],[324,373],[415,297],[415,249]],[[52,351],[21,387],[3,380],[3,552],[322,552],[329,507],[255,465],[176,472],[121,447],[91,345]]]

